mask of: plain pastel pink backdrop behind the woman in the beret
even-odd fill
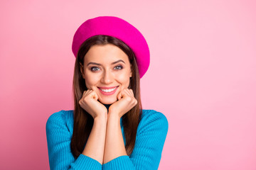
[[[143,108],[169,132],[159,169],[256,169],[255,1],[1,1],[0,169],[49,169],[46,120],[73,109],[75,30],[119,16],[149,43]]]

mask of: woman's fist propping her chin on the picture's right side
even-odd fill
[[[109,115],[118,115],[119,118],[137,105],[132,89],[123,89],[117,94],[117,101],[109,108]]]

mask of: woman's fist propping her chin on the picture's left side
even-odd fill
[[[87,113],[92,115],[93,119],[101,116],[107,118],[107,108],[97,101],[97,99],[98,96],[95,91],[88,89],[83,92],[79,104],[85,111],[87,111]]]

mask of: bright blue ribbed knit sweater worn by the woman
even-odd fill
[[[125,145],[122,118],[120,125]],[[168,126],[164,114],[154,110],[142,110],[142,119],[137,129],[132,154],[117,157],[106,164],[100,164],[84,154],[80,154],[78,159],[73,157],[70,148],[73,135],[73,111],[53,113],[46,123],[50,169],[158,169]]]

